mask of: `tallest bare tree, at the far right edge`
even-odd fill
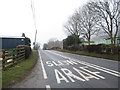
[[[108,0],[107,2],[98,1],[92,2],[94,12],[97,13],[101,19],[99,26],[103,29],[111,39],[111,46],[114,47],[116,43],[116,36],[118,34],[118,23],[120,18],[120,1]]]

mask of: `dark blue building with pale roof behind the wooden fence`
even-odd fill
[[[0,50],[16,48],[18,45],[25,45],[25,37],[0,37]]]

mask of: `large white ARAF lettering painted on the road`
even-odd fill
[[[60,84],[61,81],[65,81],[66,83],[69,83],[70,81],[75,82],[75,79],[79,80],[79,81],[83,81],[83,82],[89,81],[90,79],[97,79],[97,80],[105,79],[105,77],[98,75],[98,73],[100,73],[100,72],[92,72],[85,68],[86,67],[79,67],[79,69],[77,69],[77,68],[73,67],[73,70],[76,71],[79,74],[79,76],[75,75],[74,73],[72,73],[72,71],[70,71],[67,68],[61,68],[60,70],[54,69],[57,83]]]

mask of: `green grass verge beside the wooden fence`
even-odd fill
[[[8,87],[28,75],[30,70],[35,65],[37,57],[37,51],[33,50],[28,59],[21,61],[6,71],[2,71],[2,87]]]

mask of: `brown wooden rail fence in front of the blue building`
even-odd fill
[[[24,47],[1,50],[0,58],[2,61],[2,69],[6,70],[25,59]]]

